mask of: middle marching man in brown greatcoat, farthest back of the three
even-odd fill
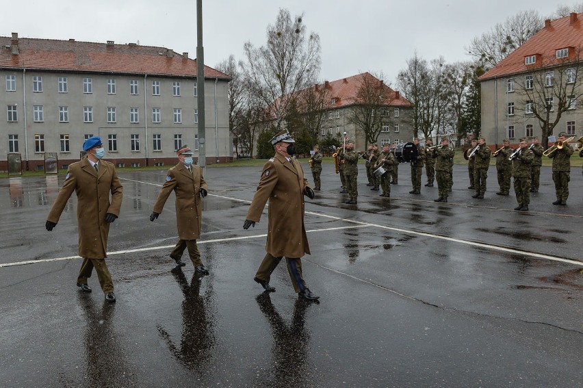
[[[209,274],[209,270],[200,259],[196,239],[200,237],[200,226],[203,221],[203,200],[207,196],[207,183],[203,178],[203,170],[192,164],[192,151],[187,145],[177,150],[179,163],[168,170],[166,182],[158,194],[150,220],[153,221],[162,213],[164,204],[171,192],[176,194],[176,220],[178,225],[178,242],[170,257],[179,267],[186,264],[181,260],[184,250],[188,248],[190,261],[196,272]]]

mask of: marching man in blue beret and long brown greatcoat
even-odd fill
[[[81,292],[91,292],[87,279],[95,268],[105,300],[115,302],[114,283],[105,263],[105,257],[107,257],[109,224],[114,222],[120,214],[123,188],[115,166],[101,159],[105,155],[105,150],[99,136],[92,136],[85,140],[83,151],[86,151],[87,157],[68,166],[65,182],[53,203],[45,227],[47,231],[53,230],[71,194],[75,191],[79,256],[83,257],[81,270],[77,276],[77,287],[81,289]],[[111,202],[109,193],[112,194]]]

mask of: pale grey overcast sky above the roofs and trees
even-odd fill
[[[572,5],[577,1],[562,1]],[[580,1],[579,1],[580,2]],[[471,38],[523,10],[543,17],[556,11],[549,0],[203,0],[205,64],[214,67],[243,44],[265,44],[265,30],[279,8],[304,14],[308,31],[320,35],[321,80],[364,71],[384,73],[394,85],[415,51],[426,60],[469,60]],[[196,0],[11,1],[0,12],[0,36],[82,40],[188,52],[196,57]]]

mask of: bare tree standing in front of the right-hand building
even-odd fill
[[[562,114],[583,103],[582,65],[578,49],[571,57],[541,61],[532,73],[515,78],[519,105],[514,114],[539,120],[545,147]]]

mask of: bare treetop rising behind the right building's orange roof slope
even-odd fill
[[[543,25],[543,18],[538,12],[522,11],[506,18],[504,23],[497,23],[481,36],[473,38],[466,50],[475,60],[482,60],[495,66],[536,34]]]

